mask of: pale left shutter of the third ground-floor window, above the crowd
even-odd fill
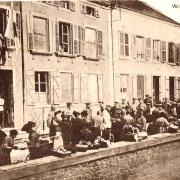
[[[81,101],[88,101],[88,75],[81,74]]]

